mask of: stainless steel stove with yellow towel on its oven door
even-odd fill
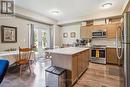
[[[93,45],[91,47],[91,62],[106,64],[106,46]]]

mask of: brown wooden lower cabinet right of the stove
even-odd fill
[[[116,48],[107,48],[107,63],[118,64]]]

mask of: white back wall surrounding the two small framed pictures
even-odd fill
[[[80,26],[81,26],[81,23],[63,26],[62,33],[61,33],[62,34],[62,44],[73,44],[74,42],[76,42],[76,39],[80,38]],[[76,33],[75,38],[70,37],[71,32]],[[63,38],[63,33],[68,33],[68,37]]]

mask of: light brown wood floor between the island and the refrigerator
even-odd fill
[[[121,76],[121,67],[90,63],[74,87],[123,87]]]

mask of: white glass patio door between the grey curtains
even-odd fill
[[[49,29],[34,29],[34,44],[38,52],[38,57],[42,57],[44,49],[50,47],[50,32]]]

